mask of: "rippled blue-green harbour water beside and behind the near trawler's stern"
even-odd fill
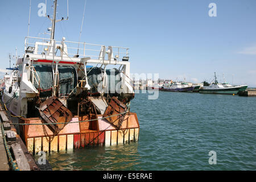
[[[256,170],[256,97],[135,94],[139,141],[47,154],[53,170]],[[209,152],[217,164],[209,164]],[[38,158],[38,156],[36,156]]]

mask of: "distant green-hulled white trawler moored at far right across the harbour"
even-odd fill
[[[216,72],[214,72],[214,82],[207,84],[204,82],[199,90],[199,93],[214,93],[214,94],[237,94],[240,91],[246,90],[248,85],[232,86],[228,82],[219,83],[217,81]]]

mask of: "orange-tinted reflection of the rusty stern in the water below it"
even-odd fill
[[[47,160],[53,170],[136,170],[140,156],[138,143],[130,143],[52,152]]]

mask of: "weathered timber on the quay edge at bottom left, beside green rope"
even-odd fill
[[[11,144],[11,149],[13,150],[18,168],[22,171],[30,171],[30,164],[28,164],[28,160],[22,151],[20,144],[18,142]]]

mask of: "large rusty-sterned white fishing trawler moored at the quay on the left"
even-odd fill
[[[137,141],[129,48],[55,40],[55,23],[64,18],[56,19],[57,0],[53,9],[51,38],[25,38],[2,94],[28,151]]]

